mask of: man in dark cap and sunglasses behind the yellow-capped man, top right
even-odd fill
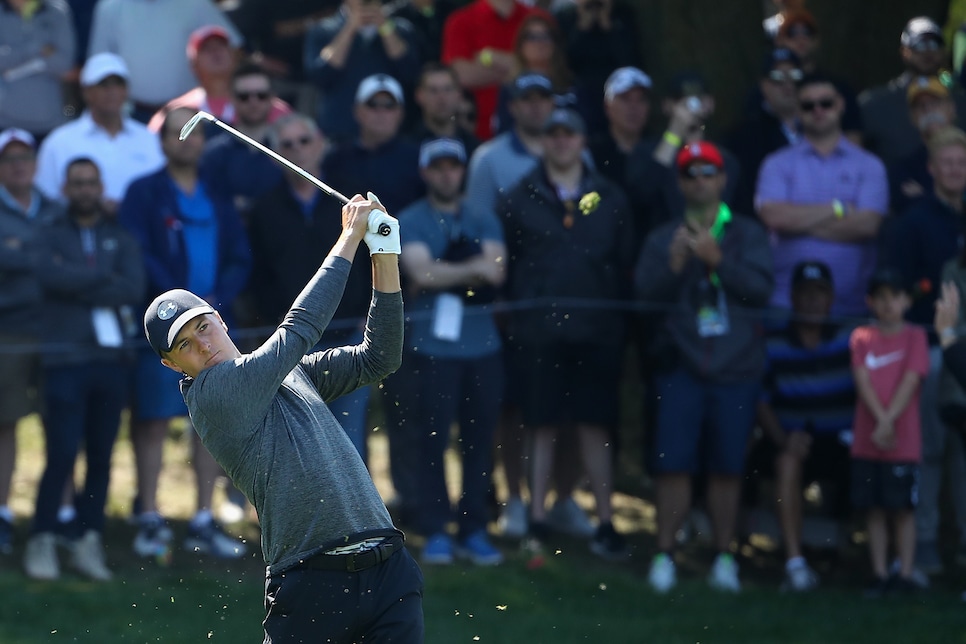
[[[956,103],[957,120],[966,123],[966,94],[945,71],[946,41],[939,25],[925,16],[913,18],[906,23],[899,42],[902,74],[859,95],[863,144],[887,166],[913,153],[920,143],[907,106],[909,83],[916,77],[939,76]]]

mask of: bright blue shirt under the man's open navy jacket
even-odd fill
[[[174,183],[174,182],[172,182]],[[187,289],[204,296],[215,291],[218,275],[218,222],[215,208],[200,181],[193,195],[185,194],[175,184],[182,225],[185,253],[188,256]]]

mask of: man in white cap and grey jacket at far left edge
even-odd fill
[[[7,506],[17,456],[17,421],[36,411],[39,373],[35,336],[41,286],[36,261],[41,226],[63,216],[60,204],[34,186],[34,138],[9,128],[0,132],[0,552],[13,540]]]

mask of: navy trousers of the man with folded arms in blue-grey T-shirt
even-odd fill
[[[441,532],[452,516],[446,489],[443,455],[450,427],[459,425],[457,449],[462,464],[462,494],[457,513],[461,536],[486,528],[487,494],[493,470],[493,433],[503,399],[503,354],[482,358],[414,356],[419,371],[419,403],[415,409],[419,432],[420,530]]]

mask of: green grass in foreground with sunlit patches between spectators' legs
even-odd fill
[[[95,584],[65,572],[54,583],[26,580],[20,558],[43,457],[35,419],[22,423],[19,435],[13,499],[19,547],[0,557],[0,642],[260,641],[264,570],[258,552],[224,562],[179,551],[169,567],[131,553],[134,528],[125,517],[133,471],[123,435],[115,452],[106,531],[116,579]],[[184,533],[194,503],[186,443],[182,433],[173,433],[161,485],[160,503],[175,519],[176,535]],[[389,494],[385,441],[378,433],[372,446],[377,486]],[[839,556],[818,554],[825,588],[799,596],[777,592],[781,561],[773,546],[746,544],[739,556],[745,591],[728,596],[705,586],[711,553],[693,543],[681,552],[681,584],[666,597],[656,596],[645,582],[654,530],[646,496],[646,491],[617,495],[618,526],[631,531],[635,553],[625,565],[600,562],[585,544],[562,539],[539,567],[512,542],[501,542],[507,561],[497,568],[424,567],[426,642],[966,643],[966,610],[959,599],[966,578],[941,578],[931,592],[914,598],[864,600],[867,566],[861,546]],[[258,550],[253,524],[235,529]],[[419,544],[413,536],[411,545]]]

